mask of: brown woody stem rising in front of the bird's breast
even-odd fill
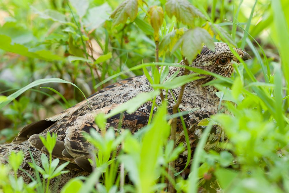
[[[183,61],[184,61],[185,65],[189,66],[188,60],[186,60],[186,58],[184,56],[182,56],[182,57],[183,57]],[[187,75],[188,72],[189,72],[189,70],[185,69],[183,75]],[[186,86],[186,84],[181,86],[181,90],[179,93],[179,97],[177,99],[177,103],[173,106],[173,114],[177,113],[177,111],[178,111],[179,105],[181,104],[181,99],[183,98],[185,86]],[[171,140],[174,141],[174,144],[176,142],[176,130],[177,130],[177,117],[173,118],[172,124],[171,124]],[[174,150],[174,148],[175,148],[175,145],[173,146],[173,150]],[[174,171],[175,171],[175,160],[171,161],[169,163],[169,166],[168,166],[168,174],[173,180],[175,180]],[[175,192],[175,187],[170,181],[168,182],[168,192],[170,192],[170,193]]]

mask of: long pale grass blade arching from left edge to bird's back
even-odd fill
[[[1,41],[1,38],[0,38]],[[6,106],[7,104],[9,104],[12,100],[14,100],[15,98],[17,98],[19,95],[21,95],[22,93],[24,93],[25,91],[27,91],[28,89],[38,86],[39,84],[45,84],[45,83],[51,83],[51,82],[58,82],[58,83],[66,83],[66,84],[72,84],[73,86],[75,86],[77,89],[79,89],[75,84],[73,84],[72,82],[68,82],[66,80],[62,80],[60,78],[43,78],[43,79],[38,79],[35,80],[34,82],[31,82],[30,84],[28,84],[27,86],[19,89],[18,91],[14,92],[13,94],[9,95],[5,101],[0,102],[0,109],[2,109],[4,106]],[[84,93],[79,89],[79,91],[83,94],[84,98],[86,99]],[[87,100],[86,100],[87,101]],[[88,101],[87,101],[88,102]],[[88,104],[89,105],[89,104]]]

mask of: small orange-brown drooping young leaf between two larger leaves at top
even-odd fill
[[[156,41],[159,38],[158,31],[164,21],[164,10],[158,5],[153,5],[149,8],[148,14],[150,15],[149,23],[154,29],[154,37]]]

